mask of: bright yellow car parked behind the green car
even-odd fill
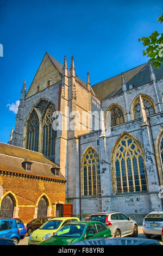
[[[79,221],[77,217],[55,217],[41,225],[40,228],[33,231],[29,236],[28,245],[39,245],[57,232],[63,225],[68,222]]]

